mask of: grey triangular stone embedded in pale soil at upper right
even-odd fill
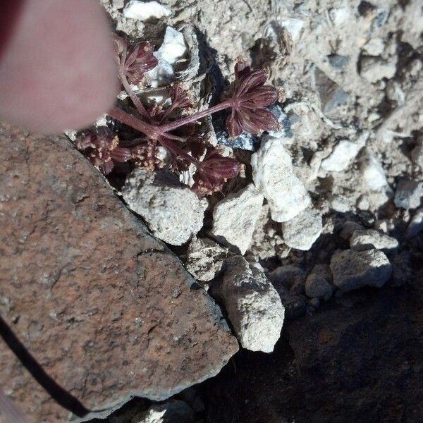
[[[312,89],[319,94],[321,111],[324,114],[329,113],[337,106],[341,106],[348,99],[348,94],[317,66],[312,72]]]

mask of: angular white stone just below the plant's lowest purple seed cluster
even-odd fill
[[[220,243],[235,247],[242,255],[252,240],[262,210],[263,195],[252,183],[217,203],[210,234]]]

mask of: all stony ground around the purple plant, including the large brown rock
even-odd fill
[[[37,422],[418,422],[421,1],[102,4],[157,46],[144,101],[181,82],[213,104],[241,58],[281,92],[279,128],[207,121],[243,171],[200,199],[192,169],[106,180],[75,131],[4,125],[1,331],[50,381],[2,349],[6,394]]]

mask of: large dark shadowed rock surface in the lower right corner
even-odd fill
[[[411,287],[355,291],[286,321],[270,355],[241,350],[200,385],[204,420],[420,422],[423,272],[413,278]]]

